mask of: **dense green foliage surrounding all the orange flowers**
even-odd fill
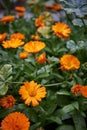
[[[52,25],[55,24],[55,19],[46,24],[50,28],[46,35],[43,35],[43,31],[38,32],[35,20],[43,14],[42,11],[51,12],[50,9],[42,8],[47,3],[41,1],[38,1],[41,5],[38,5],[39,8],[36,8],[38,3],[31,4],[29,8],[30,3],[27,1],[26,12],[34,13],[31,18],[24,17],[26,13],[23,17],[14,13],[13,22],[0,23],[0,34],[6,32],[7,40],[11,34],[19,32],[25,36],[24,44],[31,41],[32,35],[39,35],[39,40],[46,44],[43,50],[35,54],[30,53],[22,59],[19,54],[24,51],[23,46],[4,48],[3,41],[0,42],[0,99],[6,95],[13,95],[16,99],[16,104],[11,109],[0,105],[0,122],[9,113],[18,111],[29,118],[30,130],[87,129],[87,97],[81,93],[75,95],[71,91],[75,84],[87,87],[87,1],[59,0],[54,3],[59,2],[62,5],[61,10],[54,12],[60,14],[63,11],[65,14],[60,21],[71,29],[70,36],[66,39],[53,33]],[[46,61],[40,64],[36,58],[43,52],[46,53]],[[75,70],[61,69],[60,59],[65,54],[77,57],[80,67]],[[25,81],[35,81],[46,88],[46,97],[41,99],[38,106],[28,106],[21,99],[19,89]]]

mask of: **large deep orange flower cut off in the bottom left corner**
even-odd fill
[[[29,130],[30,121],[21,112],[13,112],[8,114],[1,122],[2,130]]]

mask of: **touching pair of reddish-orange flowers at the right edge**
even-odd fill
[[[87,86],[76,84],[71,89],[75,95],[82,94],[83,97],[87,98]]]

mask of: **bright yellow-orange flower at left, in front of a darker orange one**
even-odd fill
[[[23,44],[24,44],[24,42],[21,41],[20,39],[12,38],[10,40],[3,41],[2,46],[4,48],[17,48],[17,47],[19,47],[19,46],[21,46]]]

